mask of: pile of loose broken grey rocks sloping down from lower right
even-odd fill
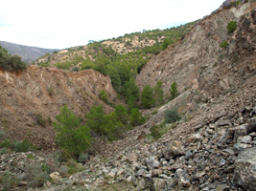
[[[255,105],[205,117],[190,134],[174,138],[174,131],[113,157],[96,156],[85,171],[44,189],[255,190]]]

